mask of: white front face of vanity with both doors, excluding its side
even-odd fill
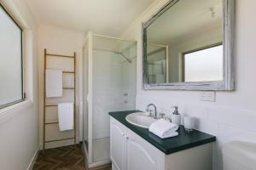
[[[110,159],[113,170],[160,170],[164,153],[120,122],[110,120]]]

